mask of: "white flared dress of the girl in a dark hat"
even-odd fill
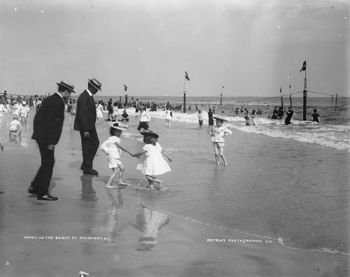
[[[172,171],[162,155],[162,147],[159,143],[156,145],[146,144],[142,149],[147,151],[141,155],[141,162],[137,164],[137,169],[142,173],[153,176]]]

